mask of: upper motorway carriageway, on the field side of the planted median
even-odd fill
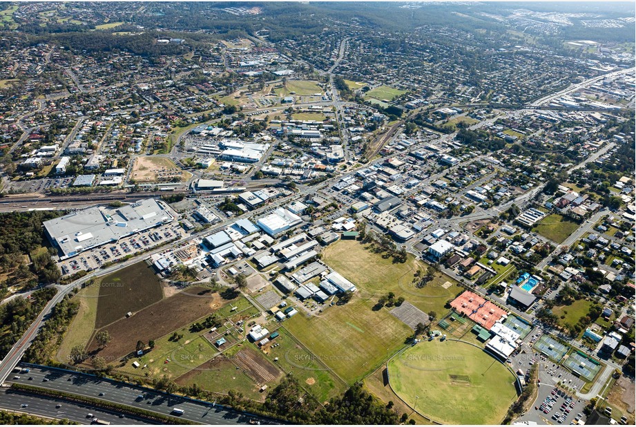
[[[174,408],[184,410],[180,417],[202,424],[248,424],[248,417],[240,412],[228,410],[222,406],[187,399],[180,396],[167,395],[149,388],[124,385],[117,381],[93,377],[77,372],[57,370],[55,368],[32,368],[28,374],[19,374],[20,379],[10,379],[7,383],[21,383],[30,386],[74,393],[94,399],[123,404],[133,408],[150,410],[163,415],[171,415]],[[32,377],[32,380],[28,378]],[[44,379],[48,381],[44,381]],[[103,396],[99,396],[104,393]],[[143,396],[143,397],[139,397]],[[0,406],[3,406],[3,396],[0,396]],[[66,404],[65,404],[66,406]],[[172,415],[175,416],[175,415]],[[86,412],[84,412],[86,417]],[[130,424],[129,419],[119,420],[119,424]],[[260,419],[261,423],[267,419]]]

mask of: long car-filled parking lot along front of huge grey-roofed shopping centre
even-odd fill
[[[182,228],[176,222],[171,223],[122,238],[117,243],[109,243],[82,252],[78,256],[60,261],[59,268],[62,276],[74,274],[81,270],[90,272],[101,267],[104,263],[117,261],[127,255],[136,255],[175,238],[182,238],[182,236]]]

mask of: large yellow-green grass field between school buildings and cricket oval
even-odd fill
[[[372,310],[375,303],[356,293],[349,303],[329,307],[320,316],[297,314],[285,321],[285,328],[351,384],[376,370],[412,334],[388,310]]]

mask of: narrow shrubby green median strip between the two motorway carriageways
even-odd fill
[[[159,412],[153,412],[150,410],[135,408],[134,406],[128,406],[124,404],[115,404],[113,402],[105,401],[102,399],[95,399],[93,397],[86,397],[81,395],[75,395],[74,393],[61,392],[58,390],[50,390],[48,388],[40,388],[34,386],[27,386],[26,384],[13,383],[12,390],[19,390],[27,392],[32,395],[44,396],[44,397],[57,397],[66,401],[72,401],[75,403],[88,404],[97,406],[100,409],[113,410],[122,412],[125,415],[135,415],[137,417],[144,417],[151,421],[160,421],[163,424],[199,424],[187,419],[177,419],[168,415],[160,414]]]

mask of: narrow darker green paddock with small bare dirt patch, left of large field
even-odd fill
[[[318,401],[325,402],[336,397],[347,389],[345,383],[334,377],[320,359],[314,357],[307,348],[297,343],[285,328],[278,328],[280,336],[266,345],[263,353],[267,359],[275,363],[283,372],[291,372],[300,384]],[[278,357],[278,361],[273,360]]]

